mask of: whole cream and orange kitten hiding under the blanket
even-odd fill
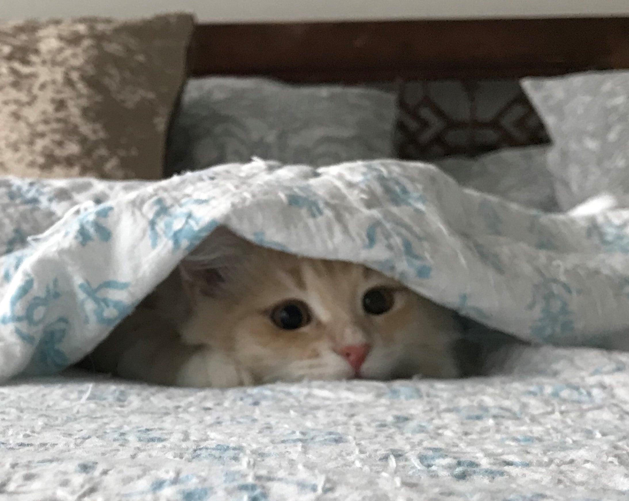
[[[449,311],[381,273],[219,228],[92,354],[97,370],[226,388],[456,377]]]

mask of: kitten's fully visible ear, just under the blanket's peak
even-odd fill
[[[179,265],[182,279],[190,292],[215,296],[233,279],[252,244],[224,226],[204,239]]]

